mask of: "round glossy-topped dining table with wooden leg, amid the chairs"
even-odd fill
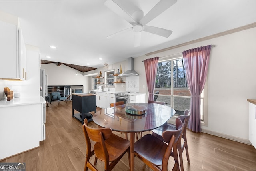
[[[134,109],[139,110],[138,114],[130,112]],[[141,112],[140,109],[142,109]],[[130,171],[134,171],[135,133],[156,129],[166,123],[174,114],[175,110],[167,105],[127,103],[97,111],[93,114],[92,119],[100,127],[109,127],[112,131],[130,133]]]

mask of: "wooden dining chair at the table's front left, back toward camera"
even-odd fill
[[[98,171],[94,167],[97,163],[97,159],[104,161],[105,171],[111,171],[126,152],[128,152],[130,165],[130,141],[113,134],[110,128],[88,127],[87,119],[84,119],[83,130],[86,140],[84,171],[87,171],[88,168],[92,171]],[[93,151],[91,150],[90,140],[96,142]],[[89,161],[93,154],[95,154],[94,165]]]

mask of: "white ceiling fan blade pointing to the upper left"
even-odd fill
[[[131,16],[132,13],[130,14],[130,11],[131,11],[130,9],[133,8],[131,4],[127,2],[120,3],[120,1],[118,0],[106,0],[104,5],[108,7],[110,10],[112,10],[114,13],[116,13],[118,16],[121,16],[124,20],[126,20],[130,24],[134,25],[136,23]]]

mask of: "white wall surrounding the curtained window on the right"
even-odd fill
[[[208,71],[208,126],[202,131],[249,143],[248,102],[256,99],[256,28],[190,44],[150,56],[134,58],[140,74],[140,92],[146,93],[142,60],[182,53],[184,50],[215,44]]]

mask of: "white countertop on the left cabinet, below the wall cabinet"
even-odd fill
[[[0,107],[12,107],[18,105],[30,105],[30,104],[40,104],[45,103],[45,100],[42,96],[32,96],[32,97],[19,97],[13,98],[10,101],[3,99],[0,101]]]

